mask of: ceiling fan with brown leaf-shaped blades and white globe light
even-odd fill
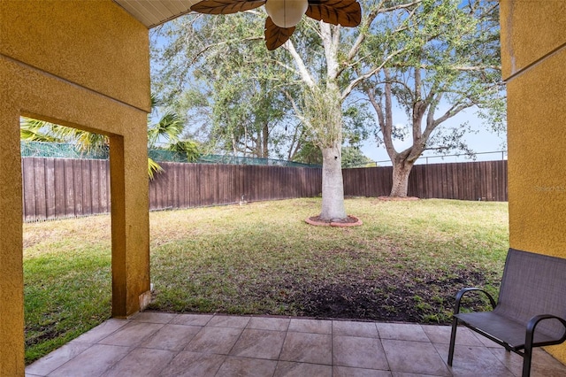
[[[231,14],[264,4],[269,15],[265,20],[267,50],[275,50],[287,42],[303,14],[343,27],[357,27],[362,20],[362,10],[356,0],[203,0],[191,6],[191,11]]]

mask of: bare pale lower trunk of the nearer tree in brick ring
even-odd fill
[[[334,142],[334,145],[330,148],[322,148],[322,161],[322,212],[320,218],[325,221],[346,219],[340,142]]]

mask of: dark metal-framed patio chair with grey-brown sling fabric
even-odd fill
[[[472,291],[485,294],[493,311],[461,313],[461,300]],[[534,347],[566,341],[566,259],[509,249],[497,304],[483,289],[460,290],[455,296],[450,366],[458,322],[522,356],[523,377],[528,377]]]

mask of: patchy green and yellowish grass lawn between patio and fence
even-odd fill
[[[150,309],[447,323],[458,289],[497,292],[507,203],[353,198],[362,227],[307,225],[320,205],[152,212]],[[27,362],[110,317],[110,239],[109,216],[24,225]]]

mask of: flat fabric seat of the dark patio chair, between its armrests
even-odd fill
[[[467,323],[470,327],[492,335],[501,342],[506,342],[514,350],[524,348],[524,340],[526,334],[526,323],[514,321],[512,319],[502,317],[496,312],[471,312],[455,314],[457,319]],[[534,343],[556,341],[555,336],[547,335],[539,331],[539,327],[534,332]]]

